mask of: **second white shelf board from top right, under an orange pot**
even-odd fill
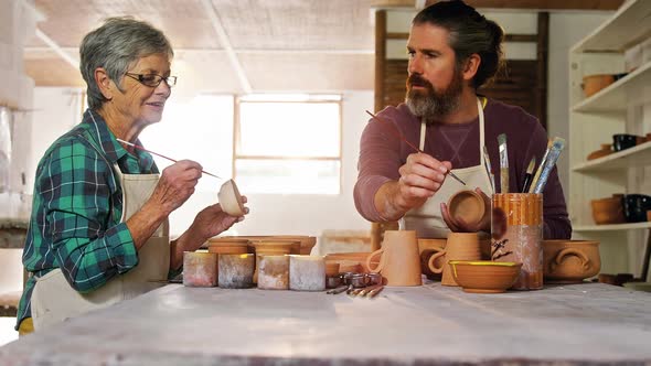
[[[650,96],[651,62],[648,62],[599,93],[576,104],[573,111],[626,112],[630,106],[649,103]]]

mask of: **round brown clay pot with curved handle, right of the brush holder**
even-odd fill
[[[601,269],[599,241],[543,240],[545,283],[580,283]]]

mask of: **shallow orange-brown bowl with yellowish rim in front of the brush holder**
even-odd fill
[[[490,260],[450,260],[450,270],[463,291],[500,293],[515,283],[522,263]]]

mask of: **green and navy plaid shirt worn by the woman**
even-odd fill
[[[17,330],[31,316],[34,276],[61,268],[75,290],[89,292],[138,265],[131,234],[120,223],[122,191],[113,171],[117,163],[126,174],[158,173],[149,153],[136,154],[89,109],[82,123],[47,149],[36,168],[23,252],[23,265],[33,276],[20,300]]]

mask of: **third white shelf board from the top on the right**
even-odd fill
[[[607,172],[636,166],[651,165],[651,142],[638,144],[634,148],[613,152],[604,158],[580,163],[572,168],[575,172]]]

